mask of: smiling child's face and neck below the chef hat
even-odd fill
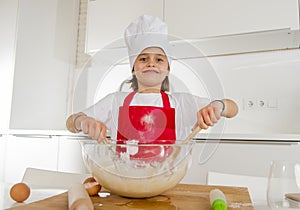
[[[139,92],[159,92],[163,80],[169,75],[167,56],[158,47],[143,50],[137,57],[133,69]]]

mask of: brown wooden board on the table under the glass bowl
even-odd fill
[[[175,188],[152,198],[132,199],[111,194],[108,197],[91,197],[95,209],[99,210],[210,210],[209,192],[213,189],[224,192],[228,210],[253,210],[247,188],[178,184]],[[68,193],[62,193],[41,201],[10,208],[11,210],[67,210]]]

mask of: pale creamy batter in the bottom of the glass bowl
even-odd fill
[[[128,167],[130,170],[126,175],[121,175],[113,162],[102,167],[92,163],[91,170],[95,179],[112,193],[126,197],[144,198],[161,194],[174,187],[185,176],[189,162],[190,157],[187,157],[176,167],[165,169],[164,172],[153,176],[148,176],[146,168],[132,170],[130,167]]]

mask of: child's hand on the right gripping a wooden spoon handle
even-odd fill
[[[209,126],[213,126],[221,118],[222,109],[223,104],[219,101],[214,101],[200,109],[197,112],[197,125],[199,125],[201,129],[207,129]]]

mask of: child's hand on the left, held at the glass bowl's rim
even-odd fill
[[[80,127],[84,134],[87,134],[90,138],[97,142],[106,141],[106,126],[104,123],[95,120],[94,118],[84,116],[80,119]]]

